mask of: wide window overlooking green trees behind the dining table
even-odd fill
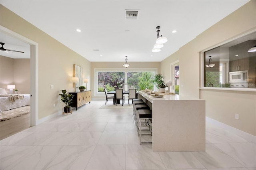
[[[125,70],[125,71],[124,71]],[[107,91],[114,91],[116,88],[123,88],[124,83],[128,83],[129,88],[154,89],[153,78],[157,69],[95,69],[95,89],[96,94],[103,94],[104,88]]]

